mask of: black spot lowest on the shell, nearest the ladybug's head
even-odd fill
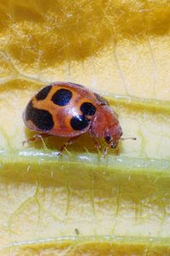
[[[83,115],[74,116],[71,118],[71,127],[76,131],[82,131],[85,129],[90,120]]]

